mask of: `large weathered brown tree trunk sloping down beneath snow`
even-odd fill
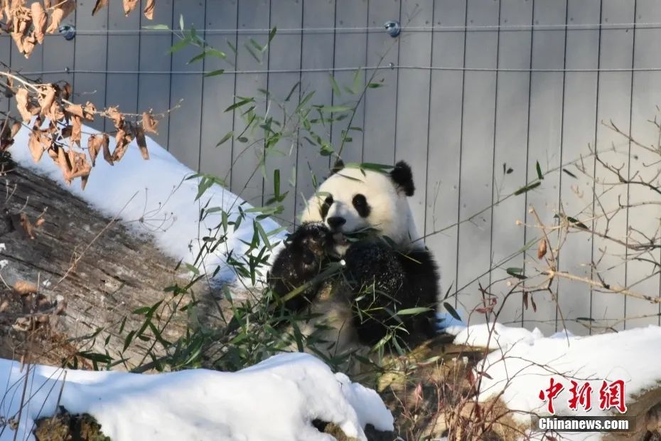
[[[113,360],[123,357],[124,366],[135,366],[153,339],[135,338],[123,352],[129,331],[143,324],[144,316],[133,312],[172,299],[163,289],[174,282],[186,284],[176,276],[176,262],[149,238],[139,238],[53,181],[5,160],[0,356],[29,353],[31,361],[58,364],[66,359],[84,366],[104,361],[93,352]],[[42,213],[43,223],[37,226]],[[169,315],[156,314],[154,324],[158,327],[158,320]],[[168,341],[184,329],[186,314],[177,312],[172,319],[162,335]],[[94,338],[85,338],[97,331]],[[149,328],[144,334],[151,334]]]

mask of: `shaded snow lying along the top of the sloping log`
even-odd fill
[[[87,146],[90,134],[99,133],[92,127],[82,127],[81,145]],[[147,147],[150,159],[142,159],[136,142],[131,145],[121,161],[111,166],[100,155],[96,166],[92,169],[85,191],[80,189],[80,180],[75,180],[68,186],[58,166],[44,154],[41,161],[35,163],[28,149],[30,130],[23,127],[16,134],[14,146],[9,152],[18,164],[28,169],[48,176],[67,188],[75,196],[79,196],[92,207],[106,216],[118,216],[134,229],[151,233],[156,245],[167,255],[176,260],[193,263],[202,245],[198,238],[208,235],[208,229],[215,228],[220,223],[219,212],[209,213],[201,223],[200,208],[207,202],[208,208],[222,207],[230,212],[230,221],[239,213],[238,206],[247,210],[252,206],[227,189],[214,184],[200,200],[195,201],[198,194],[199,179],[186,180],[195,171],[181,164],[174,156],[147,137]],[[110,139],[110,150],[115,147],[114,138]],[[225,264],[225,253],[234,250],[235,256],[242,256],[248,250],[253,236],[253,213],[247,213],[247,218],[236,231],[230,225],[227,242],[219,247],[215,255],[205,259],[200,270],[213,272],[217,265],[221,270],[218,280],[235,280],[232,268]],[[269,233],[279,228],[279,225],[267,218],[260,221],[264,230]],[[137,228],[139,227],[139,229]],[[220,232],[222,234],[222,231]],[[279,233],[269,240],[277,243],[284,238]]]

